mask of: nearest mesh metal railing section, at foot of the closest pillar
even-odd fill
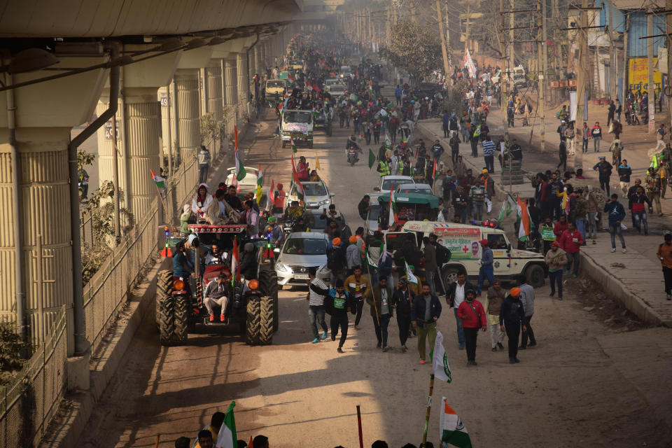
[[[36,447],[67,386],[66,307],[59,311],[45,344],[16,377],[0,388],[0,446]]]

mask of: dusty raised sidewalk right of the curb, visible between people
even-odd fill
[[[589,116],[600,116],[600,107],[594,106],[594,108],[596,109],[595,111],[589,108]],[[603,114],[606,115],[605,108]],[[547,151],[544,153],[540,153],[538,149],[540,139],[537,135],[533,135],[532,144],[531,146],[528,145],[531,127],[513,127],[510,129],[511,138],[517,138],[523,148],[523,169],[525,172],[544,172],[546,169],[554,170],[556,167],[556,148],[559,145],[559,136],[555,130],[558,123],[550,111],[547,113],[547,116],[553,118],[552,120],[547,120],[549,121],[546,126]],[[602,123],[603,119],[601,116],[597,120],[601,122],[601,125],[605,124]],[[594,121],[596,120],[589,121],[588,123],[594,123]],[[499,135],[503,134],[503,130],[500,127],[501,123],[499,111],[491,112],[488,125],[490,127],[490,135],[494,141],[498,139]],[[440,139],[444,148],[449,148],[448,139],[442,137],[442,124],[439,119],[422,120],[416,125],[416,129],[423,134],[423,137],[426,137],[426,141]],[[539,127],[537,125],[535,126],[535,132],[538,132],[538,130]],[[601,145],[602,151],[600,155],[606,155],[609,159],[610,153],[608,152],[608,147],[613,137],[610,134],[604,135],[605,138]],[[649,165],[649,162],[646,161],[648,158],[647,151],[654,147],[655,138],[652,135],[647,135],[643,126],[631,127],[628,125],[624,126],[624,133],[621,137],[621,141],[624,142],[626,148],[623,151],[623,158],[626,158],[631,167],[633,167],[633,181],[638,178],[643,179],[645,169]],[[549,148],[553,149],[550,150]],[[592,151],[592,144],[589,146],[589,151]],[[469,144],[461,144],[460,153],[463,154],[464,162],[468,167],[474,169],[474,172],[480,172],[484,167],[482,155],[479,155],[477,158],[470,156],[471,148]],[[585,177],[596,180],[596,172],[591,168],[598,161],[597,155],[590,152],[584,156],[587,156],[583,158]],[[451,166],[450,158],[444,158],[444,162],[447,166]],[[570,158],[567,162],[568,168],[573,167],[573,163],[573,158]],[[490,216],[498,214],[499,202],[504,200],[506,193],[510,190],[509,186],[502,184],[502,172],[497,161],[495,162],[495,169],[496,172],[492,177],[495,181],[498,202],[493,204]],[[617,181],[617,177],[612,176],[612,184],[615,181]],[[514,185],[511,190],[514,195],[517,193],[521,197],[532,197],[534,194],[529,181],[521,185]],[[621,201],[623,202],[623,200]],[[672,302],[666,300],[661,267],[655,255],[658,244],[662,242],[660,235],[664,230],[672,228],[669,220],[669,216],[672,214],[672,201],[661,200],[661,207],[664,213],[663,217],[659,218],[656,216],[649,218],[650,235],[648,237],[640,236],[636,233],[633,234],[629,230],[624,232],[624,239],[628,248],[628,253],[626,254],[620,252],[619,241],[617,241],[619,251],[611,253],[608,232],[599,232],[597,244],[588,244],[582,248],[581,269],[582,272],[596,281],[605,293],[622,302],[624,307],[646,323],[672,326]],[[630,224],[630,218],[626,218],[625,225],[630,227]]]

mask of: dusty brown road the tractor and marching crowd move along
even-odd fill
[[[272,139],[274,122],[261,123],[246,150],[246,165],[262,164],[265,178],[289,185],[290,149]],[[321,134],[321,133],[320,133]],[[345,164],[347,130],[299,149],[336,193],[335,203],[351,227],[361,225],[356,204],[377,183],[365,166]],[[366,150],[365,150],[366,151]],[[220,181],[211,180],[211,185]],[[493,353],[481,333],[477,367],[465,367],[458,350],[452,309],[444,307],[439,328],[453,370],[451,384],[437,383],[462,417],[475,446],[663,447],[669,426],[672,371],[671,330],[618,332],[584,311],[567,293],[558,302],[548,287],[537,290],[533,327],[538,346],[510,365]],[[247,346],[235,335],[190,335],[187,344],[163,348],[147,321],[134,338],[104,398],[98,403],[80,447],[172,447],[181,435],[195,437],[216,410],[236,400],[238,436],[264,434],[272,447],[356,447],[356,405],[361,405],[365,446],[377,439],[391,447],[418,444],[430,365],[399,350],[395,321],[388,353],[375,348],[367,314],[337,353],[335,342],[309,343],[305,290],[280,292],[280,330],[272,346]],[[605,306],[611,306],[605,302]],[[366,310],[367,311],[367,310]],[[327,339],[330,341],[330,339]],[[437,440],[437,409],[429,440]]]

